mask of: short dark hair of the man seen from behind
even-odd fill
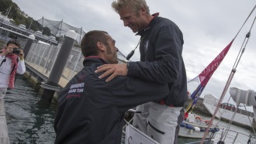
[[[106,34],[108,33],[101,30],[92,30],[86,33],[81,39],[81,53],[83,53],[85,57],[97,56],[99,54],[97,43],[102,42],[105,45],[108,44]]]

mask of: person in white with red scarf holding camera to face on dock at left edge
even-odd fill
[[[15,75],[26,71],[23,50],[19,42],[11,39],[0,53],[0,99],[5,97],[7,88],[14,88]]]

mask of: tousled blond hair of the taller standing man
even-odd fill
[[[121,9],[132,9],[133,12],[136,12],[138,15],[142,7],[146,10],[147,14],[150,15],[150,10],[145,0],[116,0],[112,2],[112,9],[117,13]]]

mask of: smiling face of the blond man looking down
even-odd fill
[[[137,15],[136,12],[133,12],[130,9],[120,9],[118,13],[120,15],[120,19],[123,20],[123,25],[130,27],[130,29],[133,30],[133,33],[137,33],[147,26],[145,26],[145,16],[142,15],[141,11]]]

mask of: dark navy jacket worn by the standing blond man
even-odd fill
[[[183,106],[188,100],[187,77],[182,59],[183,35],[169,19],[154,14],[140,35],[140,62],[130,62],[128,76],[168,83],[166,105]]]

